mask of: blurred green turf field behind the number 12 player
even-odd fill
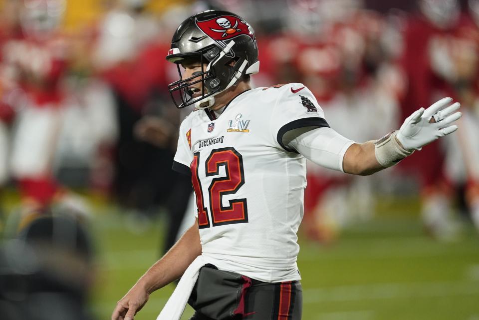
[[[91,307],[109,319],[116,301],[158,258],[163,221],[135,234],[120,215],[98,215],[98,282]],[[334,245],[301,242],[303,320],[479,320],[479,237],[426,237],[417,217],[357,223]],[[136,320],[154,320],[173,287],[151,296]],[[187,309],[183,319],[191,316]]]

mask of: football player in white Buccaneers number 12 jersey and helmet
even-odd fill
[[[252,88],[257,56],[253,29],[231,12],[195,14],[173,35],[167,60],[180,80],[169,89],[177,107],[196,107],[181,124],[173,169],[191,175],[197,220],[118,302],[112,320],[132,320],[152,292],[179,277],[159,320],[180,319],[187,301],[193,320],[301,319],[296,232],[306,158],[369,175],[458,129],[460,105],[444,98],[399,130],[356,143],[329,127],[303,84]]]

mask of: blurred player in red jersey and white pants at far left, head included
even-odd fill
[[[67,39],[59,30],[65,1],[8,5],[17,19],[2,45],[0,65],[2,82],[7,83],[2,103],[14,111],[8,172],[18,184],[21,211],[27,216],[54,202],[72,200],[54,177],[64,114],[61,81],[69,63]]]

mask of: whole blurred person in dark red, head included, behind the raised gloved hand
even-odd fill
[[[465,102],[466,116],[462,120],[465,125],[461,131],[469,131],[473,137],[471,128],[476,120],[470,121],[474,117],[468,110],[474,98],[466,95],[477,94],[473,83],[478,70],[475,59],[468,58],[472,57],[468,52],[474,52],[478,45],[477,28],[461,13],[457,0],[421,0],[418,5],[419,14],[409,18],[404,32],[403,66],[408,87],[402,101],[402,114],[409,114],[414,105],[428,105],[440,96],[449,95]],[[465,59],[468,61],[462,61]],[[445,141],[445,145],[433,143],[400,165],[419,177],[424,225],[440,240],[453,240],[458,234],[451,210],[459,187],[467,185],[468,190],[477,189],[474,187],[476,164],[472,158],[477,147],[474,140],[470,146],[467,146],[470,142],[466,145],[461,142],[464,135],[458,133],[449,139],[451,141]],[[472,203],[476,200],[469,202],[474,208]]]

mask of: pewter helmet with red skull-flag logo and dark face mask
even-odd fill
[[[215,95],[235,85],[243,75],[259,71],[254,30],[228,11],[208,10],[183,21],[173,35],[166,59],[177,64],[180,74],[180,80],[168,85],[178,108],[192,104],[209,108]],[[185,59],[201,62],[201,73],[183,79],[180,64]],[[206,69],[204,64],[208,64]],[[203,92],[193,98],[189,86],[198,82],[203,83]]]

